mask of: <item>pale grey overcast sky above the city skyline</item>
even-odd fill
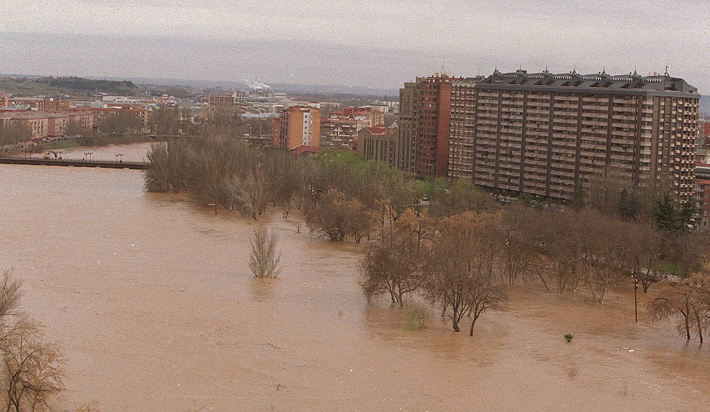
[[[396,89],[442,65],[662,72],[710,94],[710,1],[0,0],[0,72]]]

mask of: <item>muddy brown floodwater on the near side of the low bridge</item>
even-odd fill
[[[278,211],[214,216],[146,193],[140,171],[0,165],[0,211],[0,269],[25,279],[23,308],[65,348],[62,408],[708,410],[710,347],[643,313],[634,324],[626,292],[595,305],[519,284],[471,338],[433,312],[411,330],[386,299],[367,304],[361,245]],[[279,279],[246,266],[258,225],[280,236]]]

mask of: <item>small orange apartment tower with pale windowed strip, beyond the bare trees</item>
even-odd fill
[[[274,119],[273,145],[284,149],[320,145],[320,106],[291,106]]]

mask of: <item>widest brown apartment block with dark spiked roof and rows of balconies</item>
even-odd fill
[[[606,72],[501,74],[476,84],[473,182],[574,198],[604,172],[692,196],[699,94],[683,79]]]

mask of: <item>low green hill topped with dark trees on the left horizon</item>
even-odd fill
[[[67,96],[106,93],[131,95],[138,92],[128,80],[97,80],[82,77],[0,77],[0,91],[15,96]]]

